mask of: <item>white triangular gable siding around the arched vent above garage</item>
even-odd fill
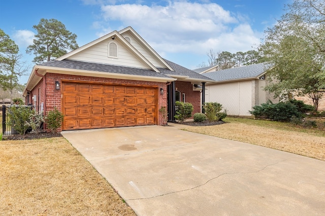
[[[114,40],[114,43],[117,44],[117,57],[109,57],[108,44],[112,41],[113,40],[111,39],[105,40],[79,53],[76,53],[68,59],[150,69],[136,55],[131,54],[131,52],[120,42],[118,42],[117,39]]]

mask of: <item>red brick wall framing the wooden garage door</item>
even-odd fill
[[[62,86],[61,79],[68,80],[78,80],[78,81],[89,81],[89,82],[102,82],[102,83],[112,83],[112,84],[131,84],[131,85],[143,85],[143,86],[157,86],[158,87],[158,107],[157,112],[161,106],[167,106],[167,86],[166,83],[160,82],[150,82],[150,81],[138,81],[138,80],[121,80],[121,79],[111,79],[111,78],[98,78],[98,77],[86,77],[86,76],[76,76],[76,75],[62,75],[62,74],[52,74],[47,73],[46,75],[46,112],[49,112],[56,107],[61,111],[61,90],[55,90],[55,81],[60,82]],[[38,93],[38,89],[41,89],[41,102],[43,102],[43,80],[40,81],[37,86],[31,90],[32,95]],[[160,88],[164,89],[164,94],[160,94]],[[31,97],[32,97],[31,95]],[[34,104],[34,103],[33,103]],[[158,112],[158,125],[164,124],[163,114]]]

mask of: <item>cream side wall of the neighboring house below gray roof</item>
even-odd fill
[[[206,86],[206,102],[221,103],[228,115],[251,116],[252,82],[231,82]]]

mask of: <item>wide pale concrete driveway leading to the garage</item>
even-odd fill
[[[325,161],[178,126],[62,135],[138,215],[325,215]]]

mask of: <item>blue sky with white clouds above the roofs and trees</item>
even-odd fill
[[[113,30],[132,26],[163,58],[189,69],[208,61],[213,51],[252,50],[263,32],[293,0],[0,0],[0,28],[25,53],[41,18],[57,19],[77,34],[83,46]],[[28,76],[20,83],[26,83]]]

